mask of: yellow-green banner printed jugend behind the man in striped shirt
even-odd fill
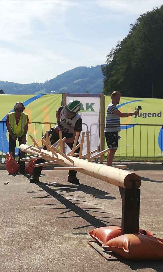
[[[105,119],[110,96],[105,96]],[[119,148],[115,156],[162,157],[163,112],[162,99],[121,97],[117,108],[121,112],[134,112],[141,106],[139,115],[121,118]],[[105,148],[107,144],[105,141]]]

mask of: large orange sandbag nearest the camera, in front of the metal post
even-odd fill
[[[124,234],[103,247],[129,260],[163,260],[163,239],[153,236]]]

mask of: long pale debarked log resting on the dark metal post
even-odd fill
[[[23,151],[23,149],[26,149],[26,153],[31,154],[31,155],[39,155],[39,150],[37,148],[32,148],[30,149],[30,147],[27,149],[28,145],[20,145],[19,149],[21,151]],[[35,150],[36,151],[35,151]],[[41,152],[41,156],[42,158],[44,158],[44,154],[45,156],[51,156],[50,157],[46,157],[46,160],[55,160],[55,156],[54,154],[52,155],[51,151],[47,151],[42,149]],[[56,151],[57,153],[57,151]],[[94,162],[88,162],[87,160],[83,160],[83,159],[79,159],[79,158],[75,158],[72,156],[67,156],[69,159],[71,159],[73,161],[70,162],[69,160],[67,160],[65,157],[63,157],[61,154],[58,154],[58,159],[64,160],[64,162],[59,162],[60,166],[65,166],[65,167],[78,167],[78,168],[83,168],[83,170],[78,170],[78,172],[82,173],[82,174],[86,174],[88,176],[91,176],[93,178],[97,178],[99,180],[103,180],[105,182],[108,182],[110,184],[113,184],[115,186],[120,186],[126,189],[132,189],[133,188],[133,180],[134,180],[134,186],[135,189],[140,188],[141,186],[141,179],[140,177],[132,172],[129,171],[125,171],[123,169],[118,169],[118,168],[114,168],[111,166],[106,166],[104,164],[97,164]],[[56,158],[57,159],[57,158]]]

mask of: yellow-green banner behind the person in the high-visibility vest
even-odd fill
[[[61,106],[62,94],[40,94],[40,95],[0,95],[0,154],[9,152],[8,132],[6,129],[6,117],[9,112],[13,112],[16,102],[22,102],[25,106],[24,112],[29,116],[28,134],[39,140],[42,133],[50,129],[50,124],[56,123],[56,110]],[[40,122],[32,123],[32,122]],[[54,126],[54,125],[52,125]],[[30,137],[27,137],[28,145],[32,144]],[[17,143],[18,147],[18,143]],[[18,148],[16,148],[16,155]]]

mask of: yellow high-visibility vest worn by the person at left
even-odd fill
[[[27,124],[27,117],[28,117],[27,113],[21,112],[19,123],[17,125],[16,119],[15,119],[15,112],[9,113],[9,124],[10,124],[11,130],[12,130],[12,133],[15,136],[21,137],[23,135],[24,127]]]

